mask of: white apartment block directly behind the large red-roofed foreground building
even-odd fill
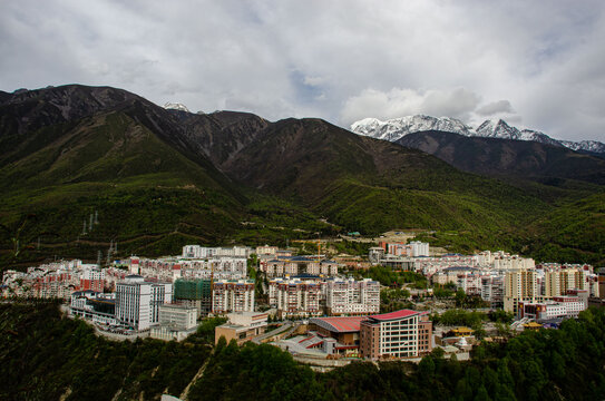
[[[380,312],[380,283],[371,278],[328,280],[324,291],[329,315]]]

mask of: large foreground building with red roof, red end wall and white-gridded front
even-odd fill
[[[432,350],[432,322],[427,312],[401,310],[368,316],[360,323],[364,358],[417,358]]]

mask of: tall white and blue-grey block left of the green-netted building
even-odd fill
[[[116,320],[138,331],[159,322],[159,306],[173,297],[170,283],[146,282],[139,275],[126,276],[116,285]]]

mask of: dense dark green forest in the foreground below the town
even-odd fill
[[[560,330],[486,343],[472,361],[354,362],[315,373],[272,345],[212,346],[207,322],[182,343],[114,342],[57,304],[0,305],[2,400],[598,400],[605,394],[605,310]]]

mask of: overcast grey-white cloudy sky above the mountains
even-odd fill
[[[605,140],[605,1],[0,1],[0,89],[271,120],[505,118]]]

